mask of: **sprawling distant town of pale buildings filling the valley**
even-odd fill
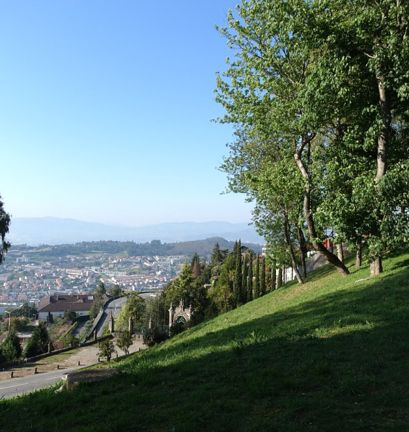
[[[107,253],[47,257],[41,248],[11,249],[0,267],[0,313],[4,307],[42,297],[94,292],[103,281],[106,288],[163,290],[177,276],[186,256],[124,256]]]

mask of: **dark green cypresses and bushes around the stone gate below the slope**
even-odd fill
[[[182,301],[185,308],[193,310],[189,322],[171,326],[173,335],[280,288],[282,270],[279,261],[242,246],[241,240],[234,242],[232,251],[220,249],[216,243],[209,260],[195,254],[161,294],[145,301],[145,343],[168,338],[171,305],[179,306]]]

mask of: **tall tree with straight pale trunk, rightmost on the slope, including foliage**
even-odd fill
[[[409,3],[400,0],[327,0],[319,6],[321,11],[329,11],[326,15],[330,26],[315,43],[325,39],[326,47],[332,53],[338,53],[330,73],[336,65],[343,65],[342,72],[354,66],[360,77],[365,74],[370,83],[369,91],[361,90],[358,96],[366,103],[367,112],[372,113],[363,138],[365,144],[375,150],[376,162],[369,177],[373,183],[365,188],[373,194],[367,242],[371,274],[374,275],[382,272],[383,249],[392,246],[397,236],[402,238],[404,232],[391,232],[390,220],[408,226],[407,211],[397,212],[397,203],[407,206],[406,195],[398,188],[391,199],[390,185],[394,183],[396,187],[408,177],[408,153],[399,157],[397,150],[400,146],[398,129],[402,123],[407,128],[409,113]]]

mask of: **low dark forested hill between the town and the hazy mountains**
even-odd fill
[[[117,241],[98,241],[98,242],[79,242],[75,244],[58,244],[49,246],[42,244],[40,247],[26,245],[13,246],[13,250],[19,251],[38,251],[41,250],[44,256],[67,256],[91,254],[94,252],[105,252],[107,254],[121,254],[125,252],[129,256],[173,256],[187,255],[210,256],[214,245],[218,243],[220,249],[231,251],[234,242],[229,242],[224,238],[212,237],[205,240],[194,240],[191,242],[162,243],[160,240],[152,240],[146,243],[117,242]],[[254,251],[261,251],[261,244],[243,244]]]

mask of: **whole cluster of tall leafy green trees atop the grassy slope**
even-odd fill
[[[308,242],[347,276],[330,233],[371,275],[408,244],[408,19],[398,0],[242,0],[216,27],[232,50],[217,120],[235,131],[221,169],[294,269]]]

